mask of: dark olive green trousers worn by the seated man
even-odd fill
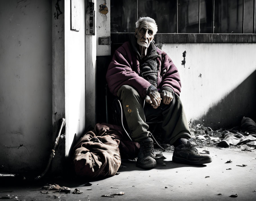
[[[127,125],[135,142],[150,137],[151,133],[148,131],[149,126],[145,123],[145,116],[152,114],[163,115],[162,128],[166,143],[172,145],[178,138],[191,138],[181,100],[176,94],[169,105],[161,102],[156,109],[148,103],[145,103],[143,108],[144,100],[142,102],[139,93],[129,85],[123,85],[118,90],[117,96],[123,104]]]

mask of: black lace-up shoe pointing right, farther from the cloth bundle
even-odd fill
[[[189,141],[187,141],[187,144],[175,147],[173,151],[173,162],[176,163],[201,165],[210,163],[211,161],[210,156],[199,154],[197,149],[193,147]]]

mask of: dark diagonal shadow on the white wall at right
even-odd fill
[[[227,79],[228,82],[228,79]],[[212,128],[240,126],[243,116],[256,119],[256,70],[193,123]]]

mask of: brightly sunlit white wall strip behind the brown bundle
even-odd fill
[[[70,1],[65,1],[65,155],[85,131],[85,1],[80,0],[80,31],[70,30]]]

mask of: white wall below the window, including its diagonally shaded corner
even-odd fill
[[[255,117],[255,48],[255,43],[163,45],[178,67],[188,120],[220,128],[239,125],[243,116]]]

